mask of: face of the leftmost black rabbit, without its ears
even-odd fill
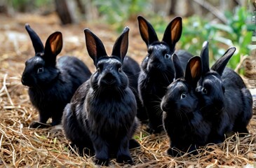
[[[60,71],[55,66],[48,66],[41,56],[34,56],[25,62],[22,73],[22,85],[36,87],[48,85],[58,77]]]

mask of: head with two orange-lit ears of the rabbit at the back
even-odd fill
[[[156,35],[152,25],[142,16],[137,17],[140,35],[147,44],[147,57],[142,61],[144,71],[173,71],[171,55],[175,51],[175,44],[182,34],[182,18],[174,18],[166,27],[162,41]]]

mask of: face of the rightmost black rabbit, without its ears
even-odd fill
[[[199,82],[196,92],[198,92],[204,112],[215,111],[215,113],[218,113],[224,108],[225,89],[219,74],[210,72],[204,76]]]

